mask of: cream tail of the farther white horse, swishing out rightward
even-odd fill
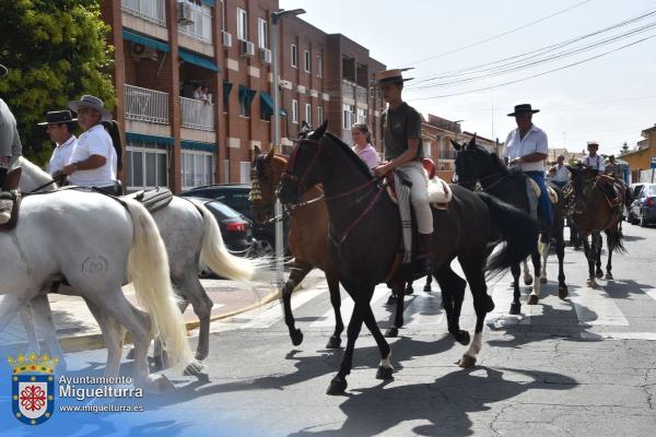
[[[233,281],[251,281],[258,269],[269,263],[265,258],[247,259],[232,255],[221,236],[221,229],[212,213],[203,205],[195,203],[202,215],[203,238],[200,260],[220,276]]]

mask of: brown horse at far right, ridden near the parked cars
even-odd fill
[[[588,260],[589,276],[586,281],[588,286],[596,286],[596,277],[604,276],[601,271],[601,231],[606,233],[608,244],[608,263],[606,264],[606,279],[612,280],[612,252],[625,252],[622,245],[622,234],[620,224],[622,217],[622,208],[624,203],[624,188],[614,181],[612,186],[619,187],[616,204],[610,204],[607,198],[602,180],[606,176],[595,177],[593,170],[585,166],[567,166],[572,174],[572,185],[574,186],[574,196],[576,198],[575,210],[572,214],[578,236],[583,241],[585,256]],[[591,235],[591,246],[588,243],[588,236]],[[595,262],[597,270],[595,271]]]

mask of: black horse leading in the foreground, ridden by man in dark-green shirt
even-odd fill
[[[328,388],[328,394],[339,394],[347,388],[347,375],[351,371],[355,340],[363,322],[380,351],[376,377],[393,377],[389,344],[376,324],[370,302],[375,286],[389,281],[401,241],[401,223],[398,206],[373,178],[366,164],[339,138],[326,133],[326,126],[324,122],[298,141],[288,162],[278,197],[285,204],[294,204],[311,187],[324,186],[330,216],[328,252],[338,265],[342,285],[354,302],[347,331],[347,350]],[[475,194],[457,186],[453,191],[448,211],[434,211],[433,214],[436,229],[434,269],[443,293],[448,331],[457,341],[467,344],[469,333],[460,330],[458,324],[466,282],[449,265],[458,256],[473,294],[477,314],[475,341],[468,351],[475,358],[480,350],[485,314],[494,307],[487,293],[484,276],[490,253],[488,243],[495,233],[503,236],[497,240],[506,241],[504,249],[489,264],[493,272],[503,271],[532,250],[538,228],[526,213],[490,196]],[[465,235],[470,243],[456,251]]]

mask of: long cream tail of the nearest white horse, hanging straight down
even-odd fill
[[[133,236],[128,262],[129,279],[139,304],[151,316],[152,330],[168,354],[168,364],[180,370],[195,363],[187,342],[187,329],[168,272],[166,248],[157,225],[141,203],[122,198],[132,217]]]

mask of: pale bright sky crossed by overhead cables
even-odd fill
[[[464,120],[464,130],[487,138],[505,140],[516,128],[506,114],[520,103],[540,109],[534,123],[547,132],[549,146],[570,152],[581,152],[594,140],[601,153],[617,153],[624,142],[635,146],[641,131],[656,125],[655,0],[280,0],[280,7],[305,9],[303,20],[348,36],[388,68],[414,67],[405,73],[415,78],[406,84],[406,102],[424,115]],[[625,39],[519,71],[487,78],[479,78],[485,72],[476,72],[475,81],[444,84],[471,78],[462,75],[464,69],[576,38],[649,11],[655,14],[564,49],[655,24]],[[649,36],[654,37],[620,49]],[[613,49],[618,50],[526,79]],[[445,73],[450,78],[435,79]],[[419,88],[425,85],[431,86]]]

